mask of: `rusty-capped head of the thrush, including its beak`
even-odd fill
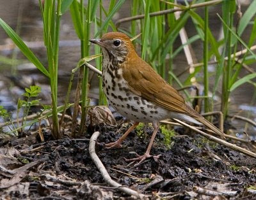
[[[135,52],[131,39],[122,32],[108,32],[101,39],[90,39],[90,42],[102,48],[104,57],[112,55],[118,61],[124,61],[128,54]]]

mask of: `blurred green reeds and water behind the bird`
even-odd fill
[[[226,121],[232,120],[235,132],[255,132],[252,125],[236,120],[239,115],[253,124],[256,116],[255,13],[256,1],[250,0],[3,1],[0,105],[16,117],[24,88],[40,85],[40,104],[52,108],[54,138],[61,138],[57,115],[65,108],[58,106],[68,103],[66,97],[75,103],[73,136],[82,100],[83,134],[87,106],[106,104],[101,78],[80,61],[100,54],[99,46],[92,47],[88,39],[109,31],[131,38],[141,33],[133,41],[138,54],[173,87],[183,89],[180,92],[196,110],[221,111]],[[101,59],[90,63],[101,70]]]

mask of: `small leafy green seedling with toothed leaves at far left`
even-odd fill
[[[26,124],[29,110],[31,106],[36,106],[40,103],[40,99],[32,99],[38,97],[41,92],[41,88],[38,85],[31,85],[29,88],[25,88],[25,93],[22,96],[26,97],[25,100],[18,100],[17,110],[19,111],[21,106],[24,107],[23,117],[22,117],[22,131],[23,125]],[[17,124],[19,126],[19,123]]]

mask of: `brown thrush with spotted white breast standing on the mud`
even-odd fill
[[[216,134],[224,133],[193,110],[171,85],[136,53],[129,36],[122,32],[107,32],[100,39],[90,39],[102,50],[102,89],[109,104],[134,124],[124,135],[106,148],[120,148],[122,141],[140,123],[152,123],[154,132],[145,154],[127,161],[141,163],[150,155],[159,121],[176,118],[204,124]]]

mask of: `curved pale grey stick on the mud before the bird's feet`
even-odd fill
[[[122,186],[120,183],[117,183],[111,179],[111,177],[108,174],[108,171],[100,161],[99,157],[97,156],[95,152],[95,143],[97,138],[99,137],[100,132],[94,132],[92,134],[92,137],[90,138],[89,143],[89,153],[92,158],[92,161],[94,162],[97,169],[99,169],[100,174],[103,176],[104,180],[111,186],[116,187],[117,190],[120,190],[121,192],[125,192],[126,194],[129,194],[131,196],[136,196],[139,199],[147,199],[147,197],[144,194],[141,194],[140,192],[137,192],[135,190],[129,189],[128,187]]]

